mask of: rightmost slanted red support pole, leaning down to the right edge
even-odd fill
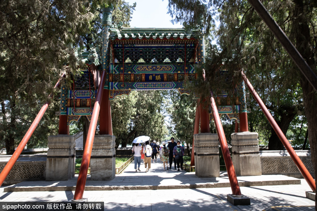
[[[301,172],[301,175],[306,179],[307,183],[309,184],[310,188],[315,191],[316,190],[316,184],[313,179],[313,177],[310,175],[309,171],[301,161],[301,159],[296,155],[293,147],[289,144],[287,138],[285,137],[284,133],[281,131],[281,128],[277,125],[276,121],[274,120],[273,116],[270,114],[268,109],[266,108],[265,104],[261,100],[260,96],[256,93],[256,90],[253,88],[252,84],[248,80],[248,78],[245,76],[244,72],[241,72],[242,78],[244,82],[247,84],[250,92],[252,93],[254,99],[259,104],[260,108],[262,109],[264,115],[270,122],[271,126],[273,127],[275,133],[280,138],[281,142],[285,146],[286,150],[288,151],[289,155],[293,159],[294,163],[296,164],[298,170]]]

